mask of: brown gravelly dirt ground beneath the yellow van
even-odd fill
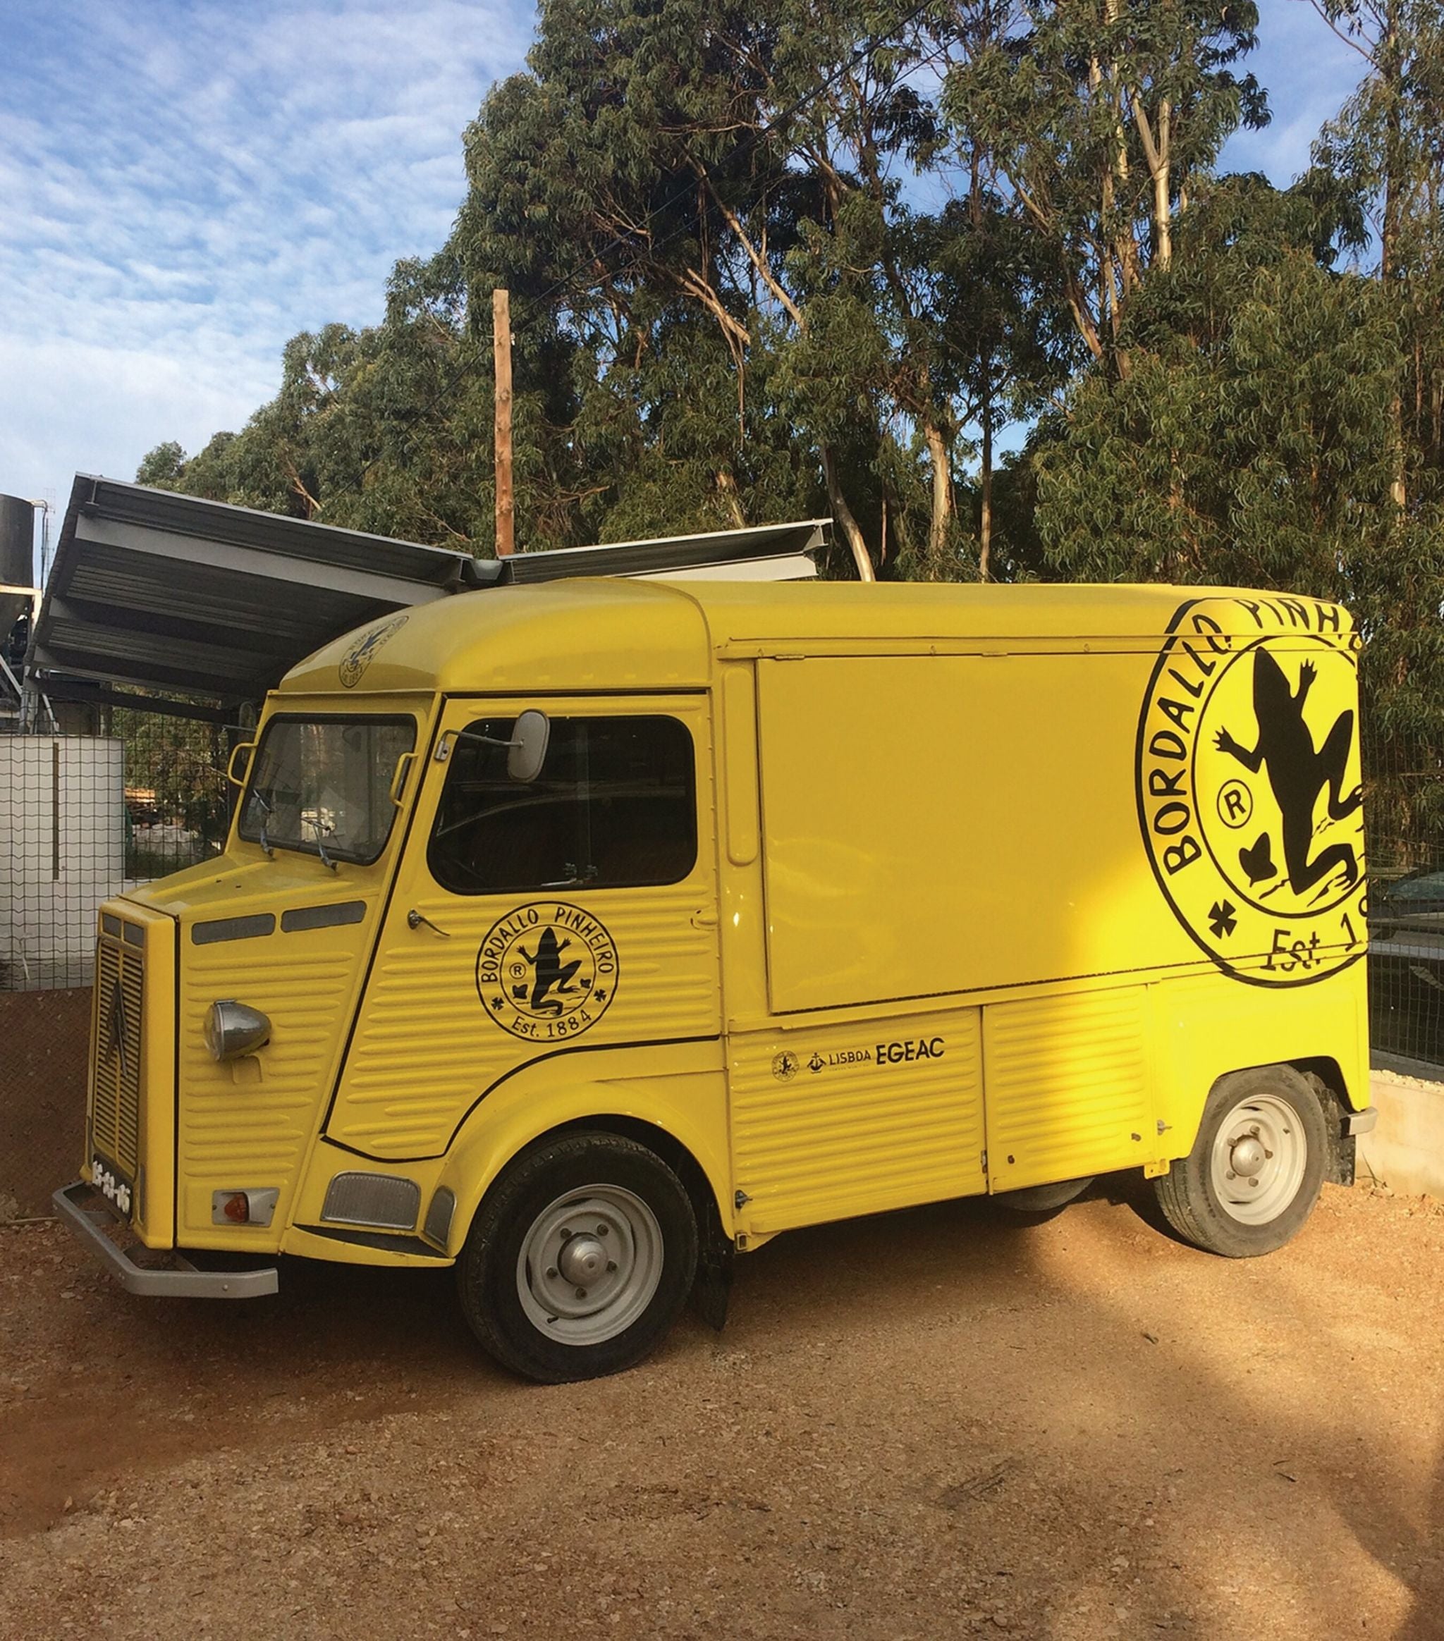
[[[779,1237],[632,1374],[448,1273],[135,1300],[0,1231],[0,1636],[1444,1636],[1444,1211],[1227,1262],[1106,1191]]]

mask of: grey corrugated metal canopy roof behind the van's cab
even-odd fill
[[[30,668],[59,697],[131,701],[108,688],[125,684],[233,706],[258,701],[313,650],[397,609],[561,576],[809,576],[802,555],[825,543],[827,528],[829,520],[804,520],[473,560],[77,474]]]

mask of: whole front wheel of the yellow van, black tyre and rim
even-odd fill
[[[566,1219],[579,1219],[578,1227],[561,1224]],[[594,1249],[612,1252],[628,1236],[635,1257],[617,1277],[624,1287],[612,1301],[587,1310],[610,1280]],[[523,1250],[564,1249],[574,1237],[584,1239],[573,1241],[574,1249],[589,1244],[584,1257],[597,1273],[578,1278],[594,1287],[571,1288],[578,1314],[568,1314],[571,1278],[561,1255],[551,1264],[543,1252],[533,1267]],[[617,1272],[615,1264],[605,1268]],[[635,1367],[676,1321],[696,1270],[697,1219],[681,1180],[635,1140],[581,1131],[523,1152],[492,1185],[456,1260],[456,1291],[471,1331],[497,1362],[525,1378],[561,1385]],[[558,1314],[548,1318],[551,1310]],[[617,1331],[605,1334],[607,1328]],[[564,1329],[574,1337],[564,1337]]]

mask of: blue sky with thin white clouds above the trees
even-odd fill
[[[1288,182],[1359,74],[1309,0],[1262,0]],[[269,399],[281,348],[381,317],[445,240],[461,130],[522,66],[525,0],[0,0],[0,491],[61,505]]]

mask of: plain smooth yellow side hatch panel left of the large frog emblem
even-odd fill
[[[1155,658],[761,661],[773,1011],[1195,960],[1139,845]]]

